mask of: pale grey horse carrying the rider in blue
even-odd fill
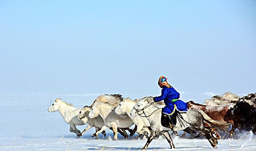
[[[217,148],[217,138],[211,133],[210,130],[205,129],[204,123],[207,123],[211,127],[226,128],[228,124],[220,123],[215,120],[212,120],[201,110],[188,110],[187,113],[178,113],[177,123],[174,128],[166,128],[161,125],[161,107],[154,103],[153,98],[142,98],[135,107],[131,110],[131,116],[143,115],[148,118],[152,132],[148,137],[147,143],[144,145],[141,150],[148,148],[149,143],[153,140],[154,136],[158,132],[162,132],[167,141],[169,142],[171,148],[175,148],[173,141],[170,137],[168,131],[181,131],[181,130],[194,130],[201,132],[205,138],[208,139],[213,148]],[[136,115],[135,115],[136,114]]]

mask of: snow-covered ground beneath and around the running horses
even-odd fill
[[[95,140],[90,129],[81,138],[69,132],[69,125],[64,122],[59,112],[49,113],[47,108],[52,98],[62,98],[75,107],[90,105],[100,94],[45,95],[45,94],[1,94],[0,95],[0,151],[137,151],[146,143],[146,139],[128,138],[118,135],[113,141],[113,133],[107,130],[107,136],[100,134]],[[126,96],[125,96],[126,97]],[[131,96],[130,96],[131,97]],[[131,97],[132,98],[132,97]],[[134,99],[134,98],[133,98]],[[77,126],[82,131],[86,126]],[[224,134],[223,134],[224,135]],[[256,151],[256,135],[236,134],[233,139],[219,140],[217,149],[203,138],[190,139],[172,135],[177,151]],[[165,138],[156,138],[148,146],[149,151],[169,151]]]

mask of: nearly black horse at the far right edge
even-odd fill
[[[239,101],[227,111],[224,120],[233,120],[239,129],[253,131],[256,134],[256,107],[245,101]]]

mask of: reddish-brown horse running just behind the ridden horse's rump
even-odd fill
[[[193,101],[189,101],[187,102],[187,107],[192,110],[203,110],[203,112],[206,113],[208,116],[210,116],[210,118],[212,118],[213,120],[217,120],[224,123],[231,123],[232,125],[234,125],[233,120],[225,121],[223,119],[226,112],[230,108],[230,104],[207,106],[203,104],[194,103]],[[209,127],[209,126],[205,125],[205,127]],[[234,129],[236,129],[236,127],[232,126],[232,129],[230,130],[230,134],[233,134]],[[216,129],[212,129],[212,130],[216,133],[217,138],[220,139],[221,136],[219,135],[217,130]]]

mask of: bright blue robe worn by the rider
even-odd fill
[[[175,110],[179,110],[180,112],[187,111],[187,103],[177,100],[173,101],[174,99],[179,99],[180,94],[173,88],[167,88],[163,86],[162,88],[162,94],[159,97],[155,98],[156,102],[164,100],[164,104],[166,105],[163,108],[163,113],[166,113],[168,115],[171,115],[174,113]]]

